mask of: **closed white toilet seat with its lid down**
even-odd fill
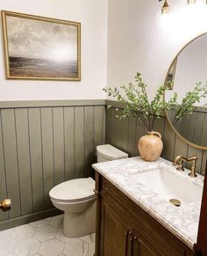
[[[92,178],[71,179],[52,188],[49,195],[54,201],[63,203],[89,201],[96,197],[94,188]]]

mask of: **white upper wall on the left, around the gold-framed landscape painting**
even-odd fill
[[[103,99],[107,69],[107,0],[0,0],[1,10],[82,24],[82,81],[6,80],[0,47],[0,100]],[[2,29],[1,38],[2,38]]]

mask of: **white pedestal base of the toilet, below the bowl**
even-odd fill
[[[65,211],[63,220],[63,234],[68,238],[80,238],[96,230],[96,201],[80,213]]]

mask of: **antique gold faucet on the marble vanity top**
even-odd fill
[[[177,165],[177,168],[176,168],[177,171],[183,172],[184,171],[183,164],[186,163],[186,162],[192,162],[191,172],[189,172],[189,176],[195,178],[195,177],[197,177],[197,175],[196,175],[196,161],[197,161],[196,155],[194,155],[193,157],[190,157],[190,158],[177,156],[177,157],[175,157],[173,165]]]

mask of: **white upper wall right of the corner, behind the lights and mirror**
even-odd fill
[[[177,52],[207,31],[207,4],[200,2],[189,6],[186,0],[168,1],[171,13],[165,17],[158,0],[110,0],[108,86],[132,82],[139,71],[152,99]]]

